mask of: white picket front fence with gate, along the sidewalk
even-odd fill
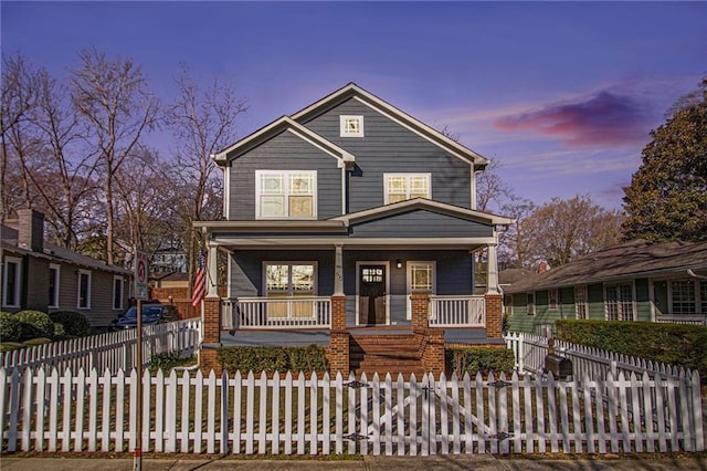
[[[137,370],[0,368],[3,451],[129,452]],[[244,454],[703,451],[699,376],[141,377],[144,452]]]

